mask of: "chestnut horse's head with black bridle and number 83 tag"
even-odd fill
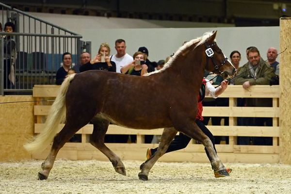
[[[213,31],[213,34],[204,43],[206,56],[205,68],[226,79],[228,76],[233,76],[236,68],[227,60],[222,50],[217,46],[215,42],[216,32]]]

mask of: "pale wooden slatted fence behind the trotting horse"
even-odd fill
[[[33,97],[36,100],[54,99],[59,86],[35,85]],[[241,85],[229,85],[220,97],[229,98],[228,107],[204,107],[203,116],[229,117],[229,126],[208,126],[215,136],[228,136],[229,144],[216,145],[220,159],[223,162],[247,162],[247,163],[278,163],[279,162],[279,86],[256,85],[248,90]],[[272,98],[273,107],[237,107],[238,97]],[[34,106],[35,125],[34,132],[39,133],[43,129],[45,116],[50,105],[48,102],[38,102]],[[237,126],[237,117],[271,117],[273,126]],[[60,125],[60,129],[63,125]],[[99,150],[89,143],[89,135],[93,126],[88,124],[77,133],[81,134],[81,143],[66,143],[60,150],[58,157],[71,160],[108,160]],[[133,134],[137,136],[137,143],[117,144],[107,143],[123,160],[145,160],[146,148],[156,147],[158,144],[145,144],[145,135],[161,135],[162,129],[136,130],[110,125],[106,134]],[[241,146],[237,145],[238,136],[272,137],[273,146]],[[49,148],[47,149],[49,151]],[[48,152],[34,154],[35,159],[45,159]],[[165,154],[160,161],[165,162],[208,162],[204,146],[192,141],[185,149]]]

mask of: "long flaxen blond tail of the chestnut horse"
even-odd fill
[[[24,145],[24,148],[32,153],[42,152],[53,141],[59,130],[59,124],[65,121],[65,94],[76,74],[69,75],[62,83],[58,95],[51,105],[44,129],[39,135],[33,137],[31,141]]]

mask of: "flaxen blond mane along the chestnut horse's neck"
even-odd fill
[[[183,46],[181,46],[174,54],[173,57],[171,57],[171,59],[163,66],[162,69],[160,70],[156,70],[150,73],[147,73],[144,76],[149,76],[155,73],[160,73],[162,71],[164,71],[166,68],[168,68],[170,65],[172,65],[173,61],[175,61],[175,59],[179,56],[179,54],[184,51],[185,49],[191,47],[193,44],[196,44],[195,48],[198,47],[199,45],[203,44],[212,34],[214,33],[214,31],[212,32],[205,32],[202,36],[197,37],[193,40],[190,40],[189,42],[185,43]]]

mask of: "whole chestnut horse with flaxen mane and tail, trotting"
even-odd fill
[[[178,131],[201,142],[210,153],[210,163],[221,175],[229,176],[210,139],[195,123],[197,96],[204,70],[223,77],[236,69],[215,42],[216,32],[184,44],[164,67],[147,76],[106,71],[86,71],[65,79],[53,103],[44,130],[25,145],[31,152],[43,151],[53,141],[39,179],[47,179],[61,147],[83,126],[94,125],[90,143],[112,162],[116,172],[126,175],[120,158],[104,144],[109,123],[133,129],[165,128],[158,151],[140,169],[139,178],[148,179],[149,170],[165,153]],[[65,118],[64,128],[57,134]],[[57,135],[56,135],[57,134]]]

